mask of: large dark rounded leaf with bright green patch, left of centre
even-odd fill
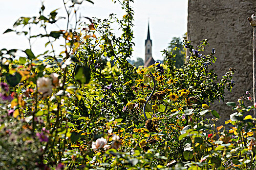
[[[88,84],[91,78],[90,68],[85,66],[77,66],[75,68],[75,80],[81,84]]]

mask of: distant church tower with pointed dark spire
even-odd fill
[[[152,40],[150,39],[150,33],[149,33],[149,25],[148,25],[148,36],[145,40],[145,63],[144,67],[148,67],[152,64],[154,64],[155,61],[152,57]]]

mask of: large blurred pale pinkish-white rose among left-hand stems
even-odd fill
[[[52,94],[52,81],[49,77],[40,77],[37,80],[38,92],[43,95],[43,97],[50,96]]]

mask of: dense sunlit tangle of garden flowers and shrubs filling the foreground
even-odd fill
[[[21,17],[5,31],[23,33],[29,44],[46,38],[51,50],[37,56],[31,45],[0,50],[1,169],[255,167],[255,123],[247,115],[254,106],[228,102],[236,112],[226,123],[234,127],[215,126],[220,116],[210,105],[231,91],[235,69],[219,79],[211,67],[215,50],[202,54],[207,40],[197,48],[184,41],[190,53],[182,68],[175,68],[176,48],[163,51],[165,64],[135,68],[127,62],[133,0],[114,0],[126,15],[104,20],[77,17],[82,2],[64,1],[65,17],[58,10],[45,14],[42,5],[39,16]],[[60,19],[66,29],[49,32]],[[112,23],[123,31],[120,37]],[[44,32],[31,35],[35,26]],[[64,42],[61,52],[57,40]]]

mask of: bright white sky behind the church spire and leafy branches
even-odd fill
[[[81,15],[85,17],[107,18],[109,14],[122,17],[125,12],[121,5],[112,0],[92,0],[94,4],[83,2]],[[60,8],[59,15],[64,14],[62,0],[44,0],[46,14]],[[147,38],[148,22],[152,40],[152,56],[155,60],[163,60],[162,52],[167,49],[172,37],[182,37],[187,32],[188,0],[134,0],[134,43],[132,58],[145,58],[145,39]],[[38,16],[40,0],[1,0],[0,1],[0,49],[29,48],[23,35],[15,33],[2,34],[12,28],[19,17]],[[117,34],[120,32],[114,27]],[[45,51],[43,40],[33,41],[32,50],[35,54]],[[56,42],[58,43],[58,42]]]

